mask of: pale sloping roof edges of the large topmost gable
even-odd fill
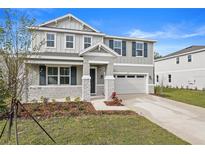
[[[47,21],[47,22],[44,22],[43,24],[40,24],[39,26],[40,26],[40,27],[43,27],[43,26],[46,26],[46,25],[48,25],[48,24],[50,24],[50,23],[53,23],[53,22],[56,22],[56,21],[59,21],[59,20],[63,20],[63,19],[65,19],[65,18],[69,18],[69,17],[71,17],[71,18],[77,20],[78,22],[80,22],[80,23],[82,23],[83,25],[87,26],[88,28],[92,29],[94,32],[97,32],[97,33],[100,32],[100,31],[96,30],[96,29],[93,28],[92,26],[86,24],[84,21],[80,20],[79,18],[77,18],[76,16],[74,16],[74,15],[72,15],[72,14],[70,14],[70,13],[69,13],[69,14],[66,14],[66,15],[64,15],[64,16],[58,17],[58,18],[56,18],[56,19],[53,19],[53,20],[49,20],[49,21]]]

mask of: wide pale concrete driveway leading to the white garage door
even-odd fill
[[[205,108],[153,95],[120,95],[124,105],[191,144],[205,144]]]

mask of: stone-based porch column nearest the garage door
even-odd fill
[[[105,82],[104,82],[104,90],[105,90],[105,99],[109,100],[111,98],[112,92],[115,91],[115,80],[113,76],[113,63],[110,62],[107,64],[106,72],[105,72]]]

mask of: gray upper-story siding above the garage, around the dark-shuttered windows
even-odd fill
[[[104,43],[109,46],[110,38],[105,38]],[[114,63],[129,63],[129,64],[153,64],[153,43],[147,43],[147,57],[133,57],[132,56],[132,42],[126,40],[126,56],[119,56],[114,60]]]

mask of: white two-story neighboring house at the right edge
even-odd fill
[[[155,60],[155,83],[205,89],[205,46],[190,46]]]

